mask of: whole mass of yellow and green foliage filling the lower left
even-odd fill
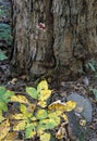
[[[46,80],[36,88],[26,87],[26,95],[0,87],[0,140],[13,141],[20,132],[23,140],[39,138],[40,141],[50,141],[53,137],[66,139],[66,112],[74,110],[76,103],[60,100],[50,103],[52,91]]]

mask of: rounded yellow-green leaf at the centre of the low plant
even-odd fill
[[[46,110],[38,110],[36,112],[36,118],[37,119],[45,119],[45,118],[47,118],[47,116],[48,116],[48,113],[47,113]]]

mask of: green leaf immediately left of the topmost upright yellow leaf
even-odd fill
[[[26,92],[28,95],[31,95],[33,99],[37,99],[38,92],[35,88],[33,87],[26,87]]]

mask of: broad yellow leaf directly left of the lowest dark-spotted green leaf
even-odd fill
[[[19,120],[14,123],[13,131],[24,130],[26,127],[26,120]]]

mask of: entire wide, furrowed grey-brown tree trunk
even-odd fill
[[[19,74],[43,75],[57,65],[60,78],[85,70],[97,53],[96,7],[96,0],[13,0]]]

